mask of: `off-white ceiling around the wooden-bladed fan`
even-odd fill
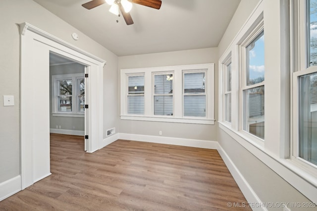
[[[81,4],[89,0],[34,1],[118,56],[217,47],[240,2],[162,0],[159,10],[133,3],[128,26],[106,3],[88,10]]]

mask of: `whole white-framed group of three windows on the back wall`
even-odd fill
[[[214,64],[121,70],[121,119],[214,124]]]

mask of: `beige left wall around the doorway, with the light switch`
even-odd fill
[[[0,5],[0,183],[20,174],[19,73],[17,24],[28,22],[107,61],[104,68],[104,127],[117,123],[117,56],[32,0],[1,0]],[[74,41],[71,33],[79,40]],[[15,106],[3,107],[2,95],[14,95]],[[106,137],[106,131],[104,132]]]

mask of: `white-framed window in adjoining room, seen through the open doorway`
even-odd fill
[[[53,116],[84,115],[84,74],[53,75]]]

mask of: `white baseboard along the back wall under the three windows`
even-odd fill
[[[187,147],[197,147],[205,149],[217,149],[218,142],[207,141],[207,140],[197,140],[197,139],[187,139],[187,138],[173,138],[165,136],[154,136],[154,135],[138,135],[138,134],[128,134],[119,133],[119,139],[126,139],[131,141],[143,141],[159,144],[171,144]]]

